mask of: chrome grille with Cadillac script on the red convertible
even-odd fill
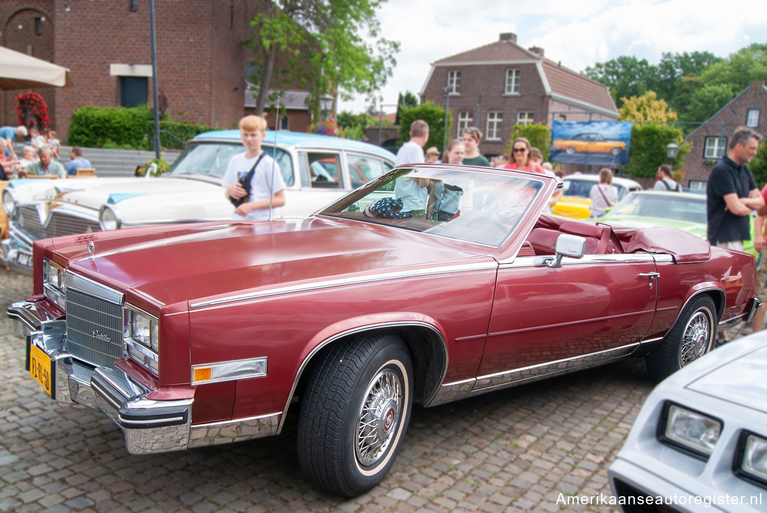
[[[67,351],[73,357],[96,367],[110,365],[123,357],[120,304],[67,287],[66,308]]]

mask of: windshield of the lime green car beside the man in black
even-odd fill
[[[634,194],[618,203],[610,215],[639,215],[640,217],[662,217],[687,222],[706,223],[706,199],[686,196]]]

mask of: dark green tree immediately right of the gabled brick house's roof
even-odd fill
[[[639,60],[633,55],[621,55],[611,61],[597,62],[583,72],[587,77],[610,88],[617,107],[623,105],[621,98],[642,96],[653,89],[658,81],[658,68],[647,59]]]

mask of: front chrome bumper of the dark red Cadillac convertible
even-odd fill
[[[123,429],[132,454],[189,447],[193,398],[147,399],[153,392],[118,367],[92,367],[66,351],[66,322],[52,319],[38,304],[20,301],[8,308],[14,333],[27,340],[26,370],[34,345],[51,358],[51,398],[98,409]]]

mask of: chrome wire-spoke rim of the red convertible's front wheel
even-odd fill
[[[365,466],[374,465],[384,455],[393,439],[402,415],[402,383],[396,373],[382,370],[367,387],[357,417],[357,459]]]

